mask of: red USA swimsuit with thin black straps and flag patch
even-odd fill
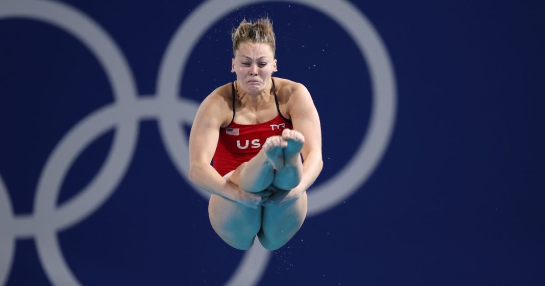
[[[233,120],[235,118],[235,90],[233,90]],[[220,128],[220,138],[217,141],[213,166],[220,175],[225,175],[241,163],[250,161],[259,153],[265,140],[271,136],[281,135],[284,128],[293,129],[292,122],[280,113],[274,82],[272,90],[278,115],[275,118],[259,124],[237,124],[231,120],[226,127]]]

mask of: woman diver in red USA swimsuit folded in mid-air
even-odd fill
[[[189,177],[212,193],[210,223],[221,239],[247,250],[257,235],[263,247],[276,250],[301,227],[306,190],[322,171],[320,120],[305,86],[272,77],[269,19],[242,21],[232,39],[237,80],[199,106]]]

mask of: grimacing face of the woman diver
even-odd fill
[[[276,71],[276,59],[268,44],[243,42],[235,52],[231,71],[237,74],[238,87],[245,93],[259,94]]]

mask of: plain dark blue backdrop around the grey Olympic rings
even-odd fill
[[[140,96],[155,94],[169,40],[201,4],[64,3],[112,36]],[[352,3],[391,57],[395,129],[365,185],[307,218],[272,254],[259,285],[544,285],[543,5]],[[287,3],[233,11],[195,46],[180,97],[200,102],[234,80],[230,31],[243,17],[260,15],[274,21],[276,76],[305,84],[320,114],[319,185],[353,156],[371,112],[367,65],[328,16]],[[93,54],[56,27],[1,20],[0,39],[0,174],[15,213],[30,214],[53,148],[78,121],[113,102],[113,93]],[[113,133],[78,157],[59,204],[94,177]],[[84,285],[220,285],[243,255],[210,227],[207,201],[174,168],[155,120],[141,121],[135,156],[113,196],[60,232],[59,241]],[[17,240],[7,284],[49,283],[34,240]]]

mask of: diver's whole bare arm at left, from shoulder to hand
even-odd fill
[[[262,197],[242,190],[210,166],[219,130],[225,121],[225,108],[228,107],[222,96],[214,93],[199,106],[189,136],[189,179],[217,196],[257,208],[263,201]]]

